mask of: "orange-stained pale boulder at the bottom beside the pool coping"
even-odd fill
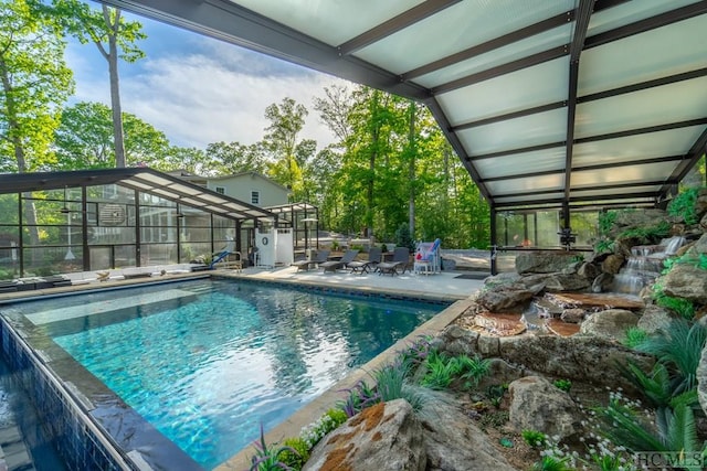
[[[404,399],[380,403],[326,436],[303,471],[424,471],[422,425]]]

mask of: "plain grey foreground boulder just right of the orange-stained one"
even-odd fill
[[[514,471],[489,437],[450,400],[429,400],[421,415],[430,471]],[[376,468],[370,468],[371,470]]]

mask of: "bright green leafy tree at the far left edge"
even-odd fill
[[[0,170],[45,169],[59,108],[73,92],[64,63],[65,43],[50,21],[23,0],[0,2]],[[30,194],[25,194],[29,199]],[[39,244],[36,213],[24,205],[30,242]]]

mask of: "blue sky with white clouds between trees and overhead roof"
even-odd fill
[[[175,146],[204,149],[210,142],[263,138],[265,108],[291,97],[309,109],[302,139],[319,149],[334,140],[314,109],[324,87],[347,84],[260,53],[176,26],[124,12],[139,21],[146,57],[119,63],[123,111],[167,135]],[[74,71],[75,101],[110,103],[108,65],[94,44],[70,43],[66,62]],[[350,85],[350,84],[349,84]]]

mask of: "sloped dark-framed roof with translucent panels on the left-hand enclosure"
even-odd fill
[[[232,220],[277,218],[262,207],[148,168],[0,174],[0,193],[119,184]]]

